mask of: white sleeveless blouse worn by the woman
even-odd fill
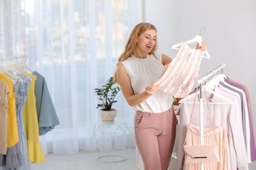
[[[125,66],[135,94],[144,92],[147,86],[157,80],[164,68],[161,63],[161,54],[155,54],[155,56],[148,54],[144,59],[135,58],[132,55],[121,63]],[[133,109],[142,112],[164,112],[170,109],[172,105],[173,97],[158,90],[144,102],[133,107]]]

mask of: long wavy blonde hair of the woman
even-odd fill
[[[144,33],[145,31],[148,31],[148,30],[154,30],[157,33],[156,27],[148,22],[142,22],[140,24],[137,24],[133,28],[133,31],[131,31],[131,35],[129,36],[129,39],[126,42],[125,50],[124,50],[123,54],[121,54],[121,56],[118,58],[117,65],[121,61],[125,61],[125,59],[129,58],[131,56],[131,54],[133,54],[133,52],[135,52],[135,49],[137,46],[137,42],[136,42],[137,38],[140,35],[142,35],[142,33]],[[156,39],[156,44],[152,48],[152,50],[150,51],[149,54],[154,54],[154,52],[156,52],[157,49],[158,49],[158,40]],[[117,77],[116,77],[116,72],[114,73],[113,81],[114,81],[114,83],[118,83]]]

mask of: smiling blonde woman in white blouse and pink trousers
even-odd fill
[[[118,83],[127,103],[136,110],[135,140],[144,169],[168,169],[178,123],[173,97],[152,86],[164,65],[171,62],[158,54],[157,30],[150,23],[135,26],[118,59],[114,82]],[[207,46],[198,44],[205,51]]]

